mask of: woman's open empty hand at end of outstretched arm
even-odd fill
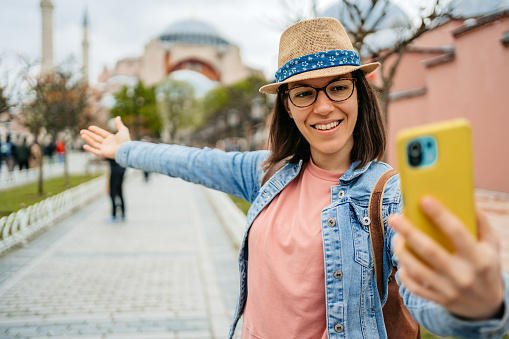
[[[87,145],[83,146],[85,151],[102,157],[115,159],[118,148],[126,141],[131,141],[129,129],[122,123],[120,117],[115,118],[117,133],[110,133],[100,127],[90,126],[80,131],[81,138]]]

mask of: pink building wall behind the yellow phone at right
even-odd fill
[[[424,88],[425,94],[389,104],[387,161],[397,167],[394,140],[402,128],[464,117],[473,128],[476,187],[509,192],[509,46],[501,42],[509,13],[479,23],[461,34],[464,26],[444,25],[419,38],[419,46],[454,45],[452,60],[429,65],[432,55],[404,56],[393,92]]]

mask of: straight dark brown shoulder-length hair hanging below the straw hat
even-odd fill
[[[372,160],[382,159],[387,136],[385,120],[375,89],[362,71],[353,71],[352,77],[357,80],[359,111],[353,131],[354,145],[350,160],[352,163],[358,160],[359,164],[355,169],[359,169]],[[264,168],[269,168],[283,159],[288,159],[288,162],[294,164],[299,160],[308,162],[311,157],[308,141],[302,136],[285,109],[284,101],[288,100],[288,97],[284,95],[284,92],[287,88],[287,84],[278,88],[278,96],[269,117],[271,154],[263,163]]]

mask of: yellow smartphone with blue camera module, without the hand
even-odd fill
[[[450,253],[454,247],[422,213],[419,201],[431,195],[458,216],[477,238],[472,132],[466,119],[402,130],[397,135],[403,213]]]

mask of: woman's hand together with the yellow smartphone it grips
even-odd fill
[[[389,224],[403,293],[464,319],[500,317],[507,295],[499,244],[474,207],[469,123],[406,130],[397,143],[404,215]]]

